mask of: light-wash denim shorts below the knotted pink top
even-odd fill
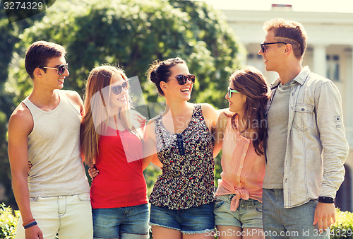
[[[237,210],[230,211],[230,202],[234,194],[216,197],[216,226],[239,226],[239,228],[263,228],[262,203],[255,199],[239,200]]]

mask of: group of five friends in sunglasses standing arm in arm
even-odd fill
[[[83,104],[61,90],[64,47],[34,42],[32,93],[8,122],[16,238],[137,239],[149,227],[155,239],[329,238],[349,152],[340,93],[301,65],[301,23],[276,18],[264,30],[258,54],[280,76],[271,86],[257,69],[238,69],[229,107],[217,111],[189,103],[197,78],[183,59],[156,60],[146,75],[166,108],[148,122],[131,107],[123,69],[92,69]],[[148,200],[150,162],[162,174]]]

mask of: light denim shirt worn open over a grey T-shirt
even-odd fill
[[[271,85],[268,109],[278,78]],[[335,198],[349,153],[340,93],[328,78],[304,66],[291,83],[283,194],[285,208],[319,196]]]

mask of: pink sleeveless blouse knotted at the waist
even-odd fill
[[[238,129],[233,129],[230,117],[222,142],[221,164],[222,179],[218,180],[216,196],[235,194],[231,211],[237,210],[241,198],[262,202],[265,156],[258,156],[252,140],[241,136]]]

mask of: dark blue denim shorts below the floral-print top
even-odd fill
[[[183,234],[201,234],[215,230],[213,202],[189,209],[171,210],[151,204],[150,226],[161,226]]]

